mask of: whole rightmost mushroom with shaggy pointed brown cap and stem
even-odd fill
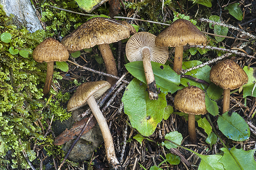
[[[212,67],[210,80],[223,89],[222,113],[229,111],[230,90],[238,89],[248,82],[245,71],[232,60],[223,60]]]

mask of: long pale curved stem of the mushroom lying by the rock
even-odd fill
[[[87,99],[87,103],[88,103],[89,107],[91,108],[92,113],[100,126],[100,130],[101,130],[101,133],[102,133],[102,136],[104,139],[104,143],[105,143],[105,150],[106,150],[106,156],[108,159],[108,163],[110,166],[112,166],[111,169],[116,169],[116,170],[123,169],[123,167],[120,165],[119,161],[116,158],[114,143],[113,143],[113,139],[112,139],[111,133],[108,128],[107,121],[106,121],[105,117],[103,116],[102,112],[100,111],[100,108],[97,105],[93,95]]]

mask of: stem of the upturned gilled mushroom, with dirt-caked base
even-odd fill
[[[142,49],[142,59],[143,59],[143,67],[146,76],[147,86],[148,86],[148,96],[150,100],[157,100],[157,88],[156,81],[154,77],[154,73],[151,66],[150,61],[150,49],[145,47]]]

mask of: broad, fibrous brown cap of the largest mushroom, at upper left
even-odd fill
[[[61,43],[69,51],[78,51],[100,44],[110,44],[136,33],[134,27],[125,21],[95,17],[65,36]]]

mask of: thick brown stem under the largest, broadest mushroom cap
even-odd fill
[[[106,66],[107,73],[118,76],[116,61],[109,47],[109,44],[100,44],[99,49]],[[113,79],[111,77],[106,77],[106,79],[111,84],[111,86],[113,86],[116,83],[116,79]]]

